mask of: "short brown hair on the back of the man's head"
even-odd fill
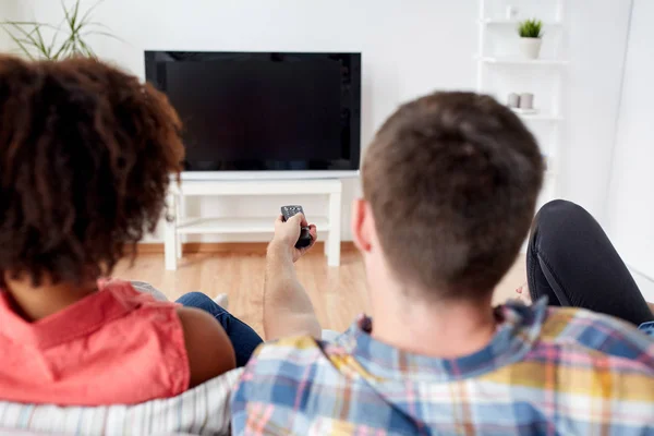
[[[534,136],[486,95],[398,109],[370,145],[363,191],[398,278],[437,298],[492,291],[529,231],[543,182]]]

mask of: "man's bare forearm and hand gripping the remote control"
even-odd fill
[[[264,284],[264,331],[266,340],[287,336],[310,335],[320,338],[320,325],[311,300],[298,281],[293,263],[306,253],[317,239],[316,227],[311,226],[312,245],[295,249],[300,228],[307,226],[302,214],[283,222],[275,222],[275,238],[268,245]]]

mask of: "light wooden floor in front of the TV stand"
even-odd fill
[[[113,276],[148,281],[174,300],[202,291],[210,296],[229,294],[229,311],[263,334],[263,253],[197,253],[185,255],[177,271],[164,268],[164,255],[142,254],[134,265],[122,262]],[[359,253],[342,253],[341,266],[330,268],[323,254],[313,253],[298,262],[298,276],[308,292],[323,328],[342,331],[360,313],[368,310],[365,269]],[[524,257],[498,286],[495,302],[500,303],[525,281]]]

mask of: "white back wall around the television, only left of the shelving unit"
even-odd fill
[[[58,1],[21,0],[21,7],[38,20],[60,16]],[[399,102],[436,88],[472,88],[475,13],[474,1],[447,0],[111,0],[94,17],[128,44],[95,39],[93,47],[142,77],[145,49],[361,51],[366,144]],[[349,211],[359,183],[344,187]],[[315,198],[206,199],[189,207],[274,217],[281,204],[298,201],[310,218],[326,213],[326,202]],[[349,238],[349,213],[343,215]]]

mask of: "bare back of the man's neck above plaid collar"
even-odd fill
[[[417,298],[411,301],[415,295],[419,293],[396,291],[373,302],[375,339],[408,352],[441,359],[472,354],[493,339],[496,320],[491,292],[476,302]]]

